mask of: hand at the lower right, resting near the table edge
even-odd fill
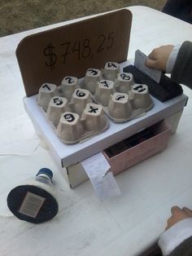
[[[192,218],[192,210],[188,209],[187,207],[183,207],[181,209],[178,206],[173,206],[171,211],[172,216],[168,218],[168,225],[165,228],[165,230],[167,230],[169,227],[172,227],[174,224],[178,223],[179,221],[185,218]]]

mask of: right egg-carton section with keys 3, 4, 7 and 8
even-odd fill
[[[140,117],[154,105],[148,86],[134,84],[133,74],[120,72],[120,65],[115,62],[107,62],[102,71],[89,68],[81,87],[92,93],[94,102],[103,105],[115,122]]]

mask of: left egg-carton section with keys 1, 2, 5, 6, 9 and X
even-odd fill
[[[64,77],[61,86],[43,84],[37,104],[63,143],[81,142],[109,127],[103,106],[93,103],[89,90],[80,88],[76,77]]]

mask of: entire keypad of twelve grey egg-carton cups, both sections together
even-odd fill
[[[82,142],[107,130],[107,116],[124,122],[153,107],[148,86],[134,84],[133,75],[120,72],[116,62],[107,62],[102,70],[89,68],[81,79],[63,77],[60,86],[44,83],[37,104],[63,143]]]

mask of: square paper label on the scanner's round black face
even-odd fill
[[[20,205],[19,213],[36,218],[45,200],[45,197],[38,196],[32,192],[27,192],[24,196],[24,201]]]

